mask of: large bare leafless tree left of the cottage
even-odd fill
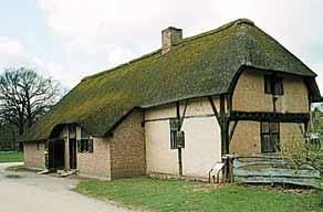
[[[20,67],[0,75],[0,119],[18,127],[21,135],[60,98],[60,84]]]

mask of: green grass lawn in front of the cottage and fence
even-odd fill
[[[323,192],[285,193],[273,189],[242,186],[212,187],[148,178],[81,181],[74,191],[149,211],[294,212],[322,211]]]

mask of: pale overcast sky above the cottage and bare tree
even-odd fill
[[[0,0],[0,71],[30,66],[73,87],[88,74],[184,36],[248,18],[316,74],[323,91],[322,0]]]

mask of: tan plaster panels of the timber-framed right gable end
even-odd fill
[[[264,93],[264,72],[246,70],[240,75],[232,97],[232,110],[274,112],[271,94]],[[279,113],[309,113],[308,88],[301,77],[282,74],[282,96],[277,95],[275,109]],[[233,123],[231,121],[230,128]],[[293,137],[302,138],[300,124],[280,123],[280,142]],[[302,125],[302,127],[304,127]],[[229,129],[230,131],[230,129]],[[240,120],[230,141],[230,153],[261,153],[259,121]]]

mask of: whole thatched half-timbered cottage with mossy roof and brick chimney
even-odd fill
[[[302,137],[316,74],[250,20],[183,39],[87,76],[23,135],[30,168],[115,179],[207,177],[227,153]]]

